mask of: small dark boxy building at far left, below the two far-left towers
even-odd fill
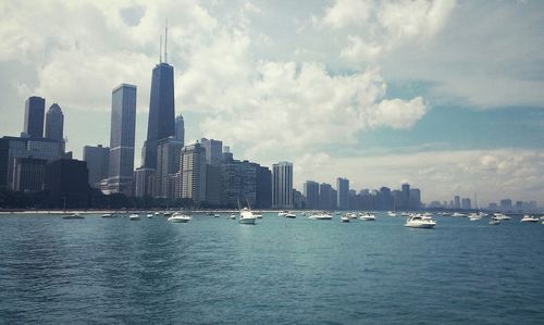
[[[15,162],[14,186],[16,191],[35,192],[44,189],[45,159],[18,158]]]

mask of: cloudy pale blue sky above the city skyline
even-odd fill
[[[347,177],[544,204],[542,1],[0,0],[0,135],[41,96],[82,159],[109,146],[111,91],[134,84],[139,166],[166,20],[186,142],[290,161],[299,190]]]

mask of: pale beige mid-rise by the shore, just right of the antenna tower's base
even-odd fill
[[[195,204],[206,202],[206,150],[200,143],[185,146],[180,160],[180,197]]]

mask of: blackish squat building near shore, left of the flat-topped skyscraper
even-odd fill
[[[48,163],[45,188],[50,195],[50,208],[87,208],[90,193],[87,163],[72,159]]]

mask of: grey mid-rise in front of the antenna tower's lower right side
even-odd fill
[[[174,198],[172,177],[180,172],[180,154],[183,142],[169,137],[157,141],[157,168],[154,197]]]

